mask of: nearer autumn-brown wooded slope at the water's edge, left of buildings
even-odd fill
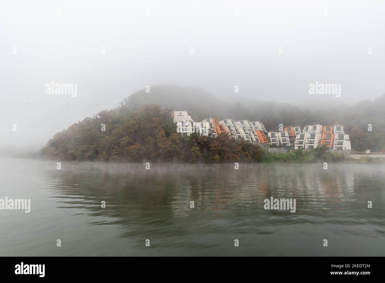
[[[66,161],[255,162],[261,160],[263,150],[244,141],[236,143],[227,135],[182,137],[176,133],[171,110],[122,104],[57,133],[42,154]]]

